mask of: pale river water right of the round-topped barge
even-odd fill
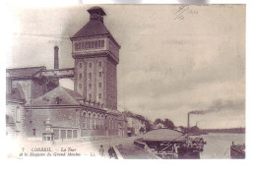
[[[201,159],[229,159],[232,142],[235,145],[245,143],[245,134],[210,133],[200,137],[207,142],[204,151],[200,153]]]

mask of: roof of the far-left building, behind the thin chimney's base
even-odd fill
[[[6,69],[6,73],[9,78],[29,78],[36,75],[38,72],[45,70],[46,68],[41,67],[27,67],[27,68],[14,68]]]

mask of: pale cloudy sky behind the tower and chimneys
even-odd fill
[[[55,45],[60,67],[73,67],[69,36],[87,24],[91,7],[14,7],[7,67],[52,69]],[[186,126],[189,111],[231,103],[220,112],[193,115],[191,125],[245,126],[245,6],[189,6],[197,14],[184,13],[184,20],[174,20],[178,5],[101,7],[106,28],[121,45],[120,110]]]

